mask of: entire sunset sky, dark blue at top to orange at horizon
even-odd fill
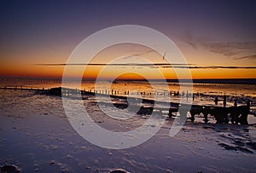
[[[86,37],[111,26],[138,25],[172,39],[193,78],[256,78],[256,1],[3,0],[0,23],[0,76],[4,77],[61,78],[63,64]],[[113,55],[166,63],[164,54],[123,44],[102,50],[91,63],[108,63]],[[131,62],[140,61],[131,57],[119,64]],[[97,78],[102,68],[89,66],[84,78]],[[156,69],[166,78],[177,78],[170,66],[133,65],[113,66],[104,78],[125,71],[149,72],[158,78]]]

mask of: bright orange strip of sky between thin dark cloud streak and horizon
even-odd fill
[[[9,77],[38,77],[38,78],[62,78],[65,66],[1,66],[0,76]],[[84,71],[83,78],[96,79],[101,72],[102,66],[90,66]],[[177,79],[177,75],[172,68],[160,69],[166,79]],[[112,78],[119,68],[113,68],[111,72],[105,73],[101,78]],[[127,69],[127,72],[132,72]],[[157,79],[154,71],[148,67],[143,67],[139,72],[147,72],[151,78]],[[139,73],[137,72],[137,73]],[[190,69],[192,78],[256,78],[256,69]],[[122,79],[141,79],[137,75],[124,75]]]

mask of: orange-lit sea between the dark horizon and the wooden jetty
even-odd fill
[[[231,82],[230,82],[231,81]],[[233,82],[232,82],[233,81]],[[122,95],[150,99],[154,101],[169,101],[179,103],[181,99],[189,98],[189,102],[202,106],[223,106],[224,96],[226,106],[232,107],[251,103],[251,112],[256,113],[256,83],[253,80],[196,80],[194,83],[177,83],[167,81],[76,81],[70,80],[61,83],[61,79],[6,79],[2,78],[0,87],[14,87],[23,89],[51,89],[56,87],[67,87],[70,89],[81,89],[105,95]],[[225,83],[226,82],[226,83]],[[238,84],[237,84],[238,83]],[[177,95],[178,94],[178,95]],[[218,104],[215,99],[218,97]],[[184,99],[183,99],[184,100]]]

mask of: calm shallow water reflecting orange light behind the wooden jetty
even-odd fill
[[[19,86],[23,88],[34,89],[49,89],[60,87],[60,82],[38,82],[38,81],[2,81],[0,86]],[[68,83],[65,85],[69,88],[79,89],[79,84]],[[214,105],[214,99],[218,96],[218,106],[223,106],[224,95],[227,96],[227,106],[233,106],[234,100],[237,99],[237,104],[245,105],[249,100],[251,101],[251,110],[256,111],[256,89],[254,84],[194,84],[193,88],[185,85],[180,89],[177,83],[163,83],[163,82],[148,82],[134,81],[134,82],[115,82],[102,81],[95,84],[95,82],[86,81],[81,84],[80,89],[113,95],[128,95],[132,97],[143,97],[154,99],[158,101],[172,101],[179,102],[181,97],[173,95],[179,92],[180,95],[186,97],[187,90],[193,89],[195,95],[193,103],[196,105]],[[172,94],[170,95],[170,92]],[[192,92],[192,91],[191,91]],[[189,97],[192,95],[188,91]]]

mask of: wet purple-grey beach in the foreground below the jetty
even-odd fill
[[[109,172],[114,169],[253,172],[256,169],[255,124],[187,121],[177,135],[171,137],[172,119],[166,118],[156,135],[143,144],[108,149],[91,144],[73,130],[60,96],[20,89],[0,89],[0,92],[0,164],[15,164],[22,172]],[[119,121],[117,124],[97,112],[96,105],[90,101],[84,104],[90,104],[88,112],[95,123],[108,130],[131,130],[148,118],[135,115],[129,123]]]

